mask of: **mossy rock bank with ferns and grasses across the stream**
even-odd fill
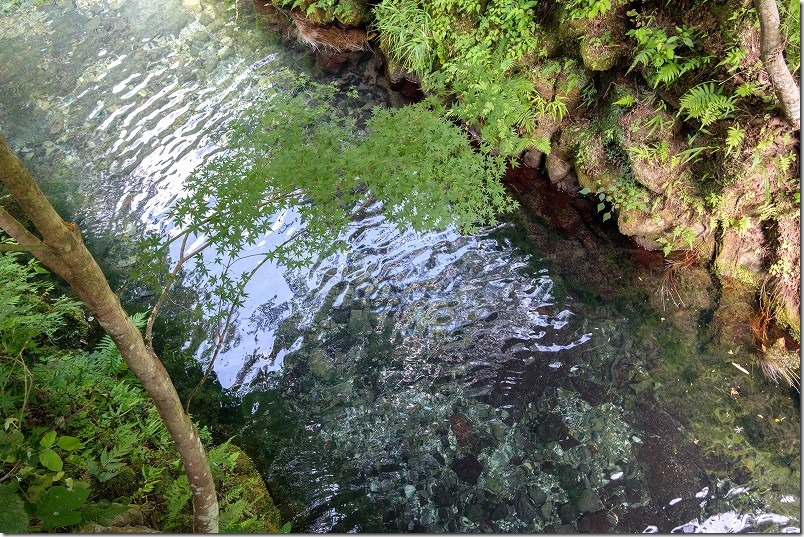
[[[272,6],[322,66],[373,50],[395,87],[440,97],[484,150],[595,196],[639,246],[708,266],[721,339],[783,348],[775,321],[800,340],[800,131],[774,95],[750,0]],[[783,54],[797,73],[798,4],[779,7],[783,46],[765,59]]]

